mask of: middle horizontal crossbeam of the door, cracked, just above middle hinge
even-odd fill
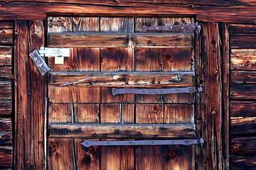
[[[193,86],[193,72],[51,72],[49,86]]]

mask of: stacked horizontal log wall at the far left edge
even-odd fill
[[[13,166],[13,22],[0,22],[0,169]]]

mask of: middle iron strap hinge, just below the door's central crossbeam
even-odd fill
[[[183,88],[171,89],[116,89],[112,88],[112,95],[117,94],[193,94],[196,91],[202,91],[202,86],[188,86]]]

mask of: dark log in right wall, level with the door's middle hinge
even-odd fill
[[[231,99],[255,99],[256,87],[254,84],[231,84],[230,98]]]

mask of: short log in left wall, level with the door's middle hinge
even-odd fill
[[[0,101],[11,100],[11,81],[0,81]]]

